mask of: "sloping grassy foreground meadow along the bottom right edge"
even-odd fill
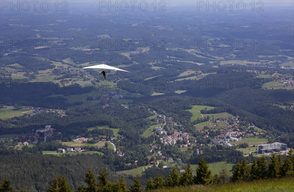
[[[161,189],[160,192],[294,192],[294,177],[255,180],[251,182],[229,182],[218,185],[191,185]],[[153,190],[150,192],[159,192]]]

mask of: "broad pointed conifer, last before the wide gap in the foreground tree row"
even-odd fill
[[[193,177],[195,184],[209,184],[212,183],[212,174],[207,162],[201,157],[198,167],[196,169],[196,176]]]

